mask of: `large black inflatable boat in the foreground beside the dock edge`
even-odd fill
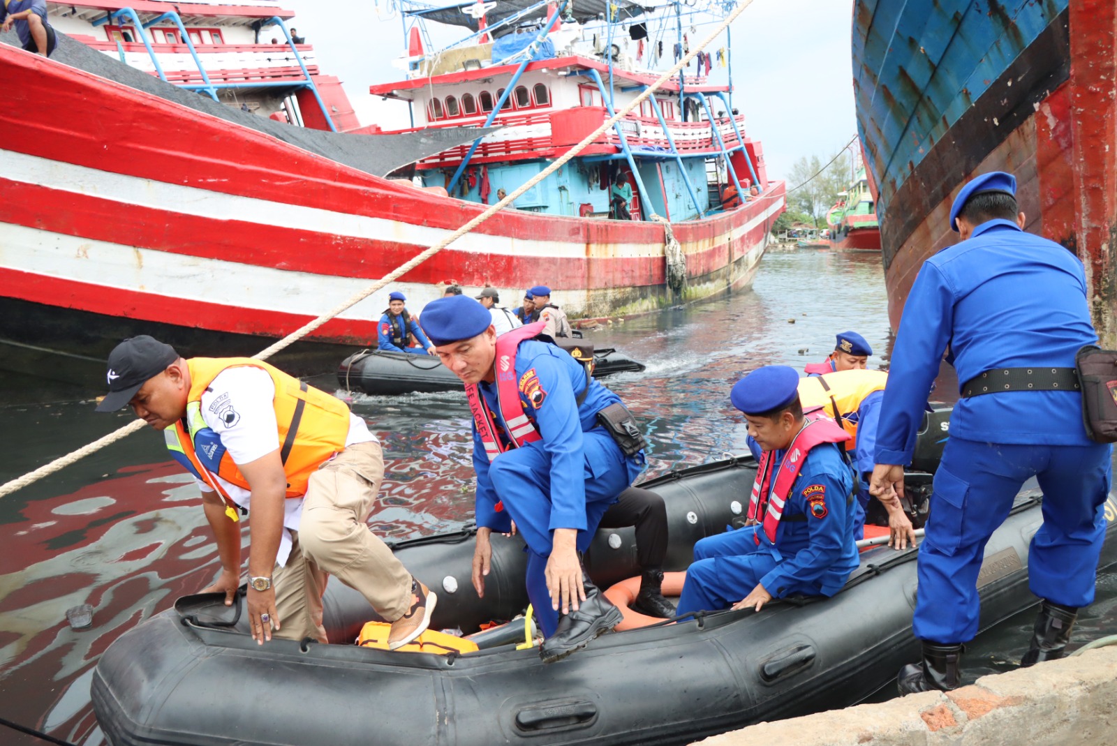
[[[734,458],[647,482],[668,505],[669,568],[685,568],[696,539],[739,519],[754,472],[752,459]],[[908,487],[926,496],[930,480],[915,472]],[[1025,491],[990,541],[978,580],[982,629],[1037,603],[1027,567],[1041,519],[1039,496]],[[477,599],[472,534],[394,547],[439,593],[432,628],[471,632],[527,603],[523,544],[500,536],[486,597]],[[1108,538],[1102,567],[1117,563]],[[449,656],[281,640],[259,647],[220,594],[187,596],[105,651],[93,702],[114,746],[686,743],[844,707],[889,685],[918,657],[915,558],[913,549],[868,549],[833,599],[614,632],[553,664],[514,645]],[[586,564],[601,585],[637,574],[631,529],[600,530]],[[372,616],[362,597],[331,583],[331,639],[353,640]]]

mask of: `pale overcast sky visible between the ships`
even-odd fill
[[[295,11],[290,25],[314,45],[322,71],[344,82],[362,124],[408,126],[405,108],[367,93],[371,84],[403,77],[391,65],[403,50],[400,18],[382,20],[378,13],[385,0],[279,4]],[[852,0],[754,0],[733,23],[734,105],[750,134],[763,143],[770,175],[784,176],[801,155],[829,160],[857,133],[851,8]],[[699,38],[707,32],[699,29]]]

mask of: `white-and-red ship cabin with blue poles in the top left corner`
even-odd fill
[[[360,126],[277,0],[48,2],[47,12],[57,31],[229,106],[317,130]]]

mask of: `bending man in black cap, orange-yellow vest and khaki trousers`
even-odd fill
[[[248,529],[246,610],[252,638],[327,642],[328,575],[392,622],[389,647],[427,629],[437,601],[369,530],[384,477],[380,442],[340,399],[248,357],[183,360],[150,336],[108,355],[98,412],[131,405],[166,436],[171,456],[202,492],[221,575],[204,593],[236,603],[240,514]]]

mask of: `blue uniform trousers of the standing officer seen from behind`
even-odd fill
[[[920,640],[977,634],[977,574],[985,544],[1023,482],[1043,490],[1043,525],[1028,552],[1032,593],[1066,606],[1094,602],[1111,480],[1110,447],[983,443],[953,436],[935,472],[927,535],[919,546],[913,628]]]

